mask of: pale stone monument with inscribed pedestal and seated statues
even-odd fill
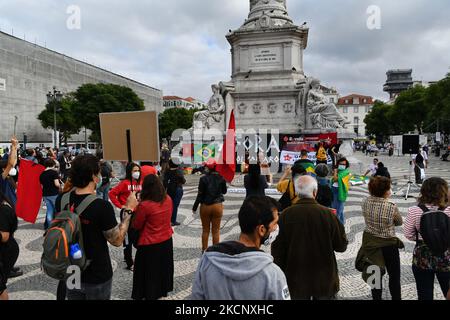
[[[286,0],[250,0],[244,24],[226,35],[231,45],[231,81],[213,86],[209,109],[195,115],[196,123],[204,129],[225,130],[225,118],[233,109],[238,129],[338,132],[345,155],[351,155],[348,146],[354,133],[346,128],[348,122],[334,104],[326,102],[320,81],[305,76],[308,35],[306,23],[294,24]]]

